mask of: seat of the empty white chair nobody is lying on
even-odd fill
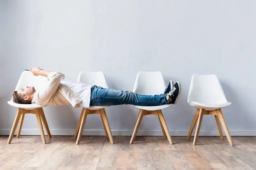
[[[189,105],[191,105],[194,108],[203,108],[206,111],[215,111],[220,108],[226,108],[228,105],[231,105],[231,102],[225,102],[225,103],[218,103],[218,104],[205,104],[201,102],[189,102]]]

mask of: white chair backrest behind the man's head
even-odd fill
[[[24,88],[26,86],[34,86],[35,90],[44,87],[48,82],[47,77],[44,76],[34,76],[30,71],[23,71],[20,75],[20,79],[17,83],[15,91]],[[12,99],[11,99],[12,100]]]

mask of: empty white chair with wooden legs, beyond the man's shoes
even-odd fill
[[[196,121],[198,120],[198,124],[195,131],[195,138],[193,142],[193,144],[195,145],[197,143],[203,115],[214,115],[221,139],[223,139],[223,134],[222,134],[219,119],[224,128],[229,144],[233,145],[224,116],[221,112],[221,108],[226,108],[231,103],[227,102],[224,91],[215,74],[211,74],[211,75],[194,74],[192,76],[192,80],[189,88],[188,103],[192,107],[197,108],[197,110],[195,112],[192,125],[189,129],[189,134],[187,136],[187,139],[190,138],[194,130]]]

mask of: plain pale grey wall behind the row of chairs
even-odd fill
[[[0,134],[8,135],[17,108],[7,104],[23,69],[38,66],[77,80],[103,71],[110,88],[132,91],[138,71],[161,71],[180,81],[177,105],[163,113],[171,135],[187,135],[195,108],[187,103],[192,74],[216,74],[232,102],[223,109],[231,135],[256,135],[255,0],[0,0]],[[81,109],[44,109],[52,134],[73,135]],[[131,135],[139,110],[106,109],[113,135]],[[84,134],[103,135],[99,115]],[[156,116],[145,116],[139,135],[161,135]],[[201,135],[218,135],[204,116]],[[40,134],[35,115],[21,134]]]

